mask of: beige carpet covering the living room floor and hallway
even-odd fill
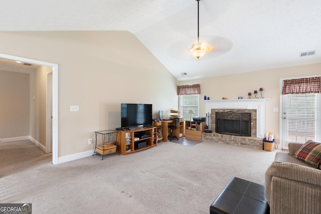
[[[159,142],[129,155],[52,164],[31,141],[0,143],[0,202],[33,213],[209,213],[232,177],[264,184],[268,152],[201,142]]]

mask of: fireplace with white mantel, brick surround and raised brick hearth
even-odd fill
[[[224,144],[232,144],[247,148],[262,149],[265,123],[265,101],[269,99],[241,99],[241,100],[206,100],[206,112],[211,113],[212,133],[203,133],[202,140]],[[235,136],[216,133],[216,113],[235,112],[250,113],[251,136]]]

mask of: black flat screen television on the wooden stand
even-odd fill
[[[121,103],[121,127],[148,126],[152,123],[152,104]]]

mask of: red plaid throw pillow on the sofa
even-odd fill
[[[295,152],[294,157],[304,160],[314,168],[318,168],[321,162],[321,144],[308,140]]]

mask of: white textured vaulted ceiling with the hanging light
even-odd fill
[[[188,52],[195,0],[0,1],[0,23],[0,31],[129,31],[178,80],[321,63],[320,0],[201,0],[200,42],[210,52],[199,61]]]

